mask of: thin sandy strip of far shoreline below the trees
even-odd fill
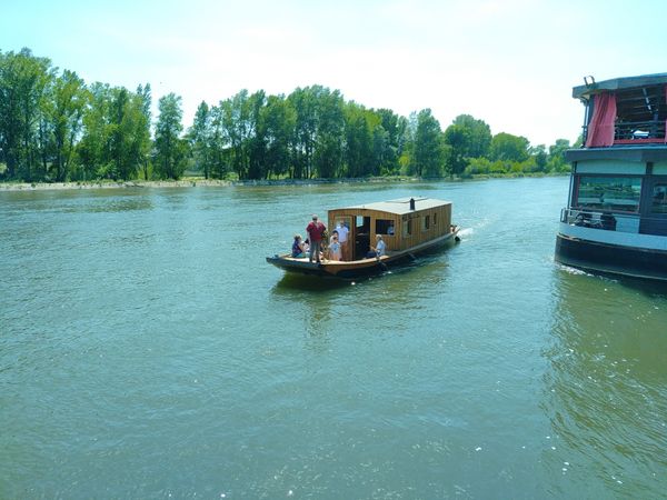
[[[461,180],[484,180],[484,179],[514,179],[517,177],[561,177],[566,173],[549,174],[521,174],[521,176],[494,176],[480,174],[472,178],[450,178],[420,179],[412,177],[372,177],[372,178],[344,178],[344,179],[281,179],[281,180],[242,180],[229,181],[219,179],[181,179],[181,180],[161,180],[161,181],[84,181],[84,182],[0,182],[0,192],[2,191],[62,191],[62,190],[82,190],[82,189],[155,189],[155,188],[196,188],[215,187],[229,188],[233,186],[311,186],[311,184],[347,184],[347,183],[382,183],[382,182],[429,182],[429,181],[461,181]]]

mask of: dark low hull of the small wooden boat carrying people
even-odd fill
[[[273,256],[267,257],[267,262],[288,272],[317,277],[354,279],[387,271],[389,267],[411,260],[414,256],[418,253],[424,253],[425,251],[432,250],[440,246],[447,246],[448,243],[458,241],[458,231],[459,229],[455,228],[451,232],[432,241],[422,243],[409,250],[382,256],[379,259],[360,259],[348,262],[325,260],[321,263],[317,263],[309,262],[308,259],[295,259],[289,256]]]

